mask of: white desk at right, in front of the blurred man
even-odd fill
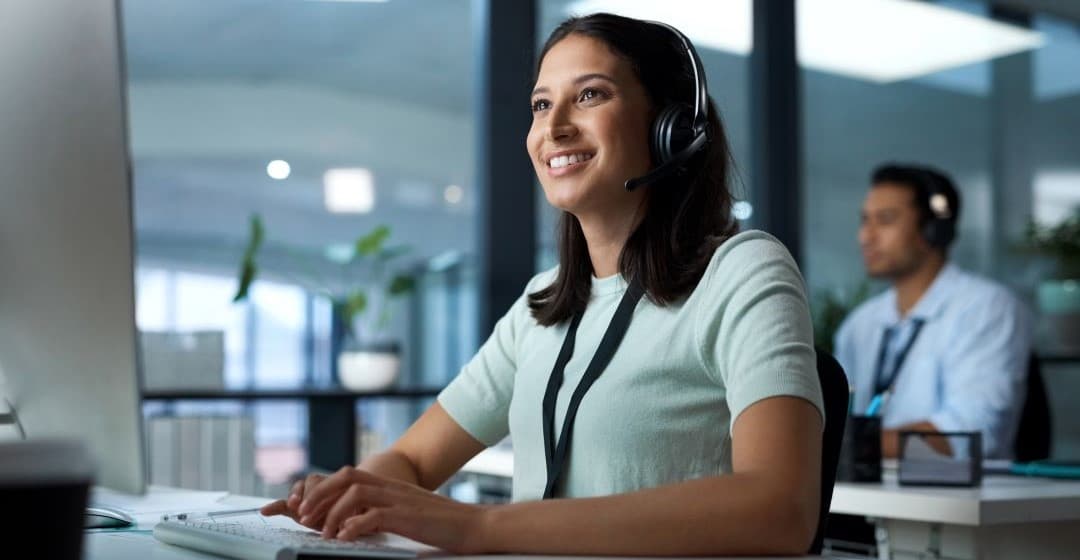
[[[1080,481],[987,476],[981,488],[837,482],[831,510],[866,516],[894,559],[1072,559],[1080,550]]]

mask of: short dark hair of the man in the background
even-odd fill
[[[887,163],[870,174],[870,188],[882,183],[900,185],[910,189],[912,200],[919,213],[920,228],[926,229],[932,221],[941,220],[955,232],[956,223],[960,219],[960,193],[948,175],[927,165]],[[934,194],[944,195],[948,202],[946,215],[935,213],[931,206],[931,197]],[[947,249],[951,242],[953,236],[949,235],[942,248]]]

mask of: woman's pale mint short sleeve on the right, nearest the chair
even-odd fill
[[[706,371],[727,391],[731,426],[747,407],[775,396],[808,400],[824,421],[810,308],[794,259],[761,232],[728,244],[702,278],[707,297],[697,332]]]

